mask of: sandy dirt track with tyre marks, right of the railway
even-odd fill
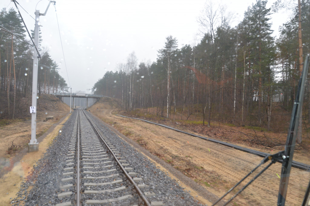
[[[218,197],[224,195],[262,160],[261,157],[246,152],[147,122],[116,116],[114,112],[117,113],[117,109],[113,102],[99,101],[89,110],[127,138],[134,140],[153,155],[164,160]],[[273,150],[274,153],[278,151]],[[262,169],[262,167],[259,169]],[[278,175],[280,174],[281,164],[272,165],[241,195],[238,195],[231,202],[232,205],[277,205],[280,182]],[[252,177],[254,176],[250,176],[250,178]],[[176,178],[181,179],[180,176]],[[245,182],[250,181],[250,178],[247,178]],[[309,178],[309,172],[292,168],[286,205],[300,205],[302,203]],[[197,198],[201,203],[210,205],[209,201],[215,201],[214,197],[206,197],[205,193],[194,191],[195,188],[190,183],[180,183],[187,190],[190,190],[193,197]],[[245,183],[241,185],[243,186]],[[240,189],[242,186],[239,185],[237,188]],[[203,199],[204,197],[206,199]]]

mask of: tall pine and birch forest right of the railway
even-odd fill
[[[294,3],[277,1],[267,8],[267,1],[257,0],[232,27],[233,15],[209,1],[198,19],[204,35],[199,42],[179,48],[178,40],[168,36],[156,61],[138,62],[133,52],[92,90],[121,99],[126,110],[144,108],[166,118],[199,113],[208,126],[216,120],[272,130],[274,109],[291,111],[302,57],[309,54],[310,1]],[[292,5],[287,9],[294,15],[276,39],[269,15]],[[305,105],[309,105],[308,82]]]

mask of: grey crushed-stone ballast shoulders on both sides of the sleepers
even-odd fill
[[[62,192],[60,182],[77,113],[77,110],[73,111],[61,129],[61,133],[54,138],[47,149],[44,157],[37,162],[37,165],[34,165],[32,174],[22,183],[17,198],[11,202],[12,205],[55,205],[60,203],[58,198],[58,194]],[[131,172],[137,174],[136,178],[142,178],[143,181],[137,183],[149,185],[147,190],[155,193],[155,195],[148,197],[148,200],[152,202],[162,201],[164,205],[202,205],[194,200],[187,191],[184,191],[166,172],[159,170],[153,162],[121,139],[101,121],[92,118],[90,113],[86,113],[97,126],[100,134],[106,136],[122,157],[126,158],[130,164],[129,167],[133,169]],[[70,183],[75,184],[75,181],[73,180]],[[68,198],[69,201],[70,199],[74,202],[74,195]],[[115,205],[127,204],[128,201],[120,201]]]

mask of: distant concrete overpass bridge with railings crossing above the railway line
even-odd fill
[[[69,99],[70,99],[70,97],[73,98],[72,102],[73,102],[74,108],[78,105],[78,98],[84,98],[84,99],[86,98],[86,107],[88,107],[89,106],[89,101],[88,101],[89,99],[92,99],[93,100],[92,104],[94,104],[101,97],[104,97],[103,95],[100,95],[100,94],[87,94],[87,93],[82,92],[82,91],[72,92],[72,93],[70,93],[70,92],[58,92],[58,93],[50,93],[50,94],[55,95],[56,97],[58,97],[63,102],[65,102],[64,101],[65,97],[69,97]],[[81,106],[81,99],[80,99],[80,106]],[[85,101],[84,101],[84,106],[85,106]]]

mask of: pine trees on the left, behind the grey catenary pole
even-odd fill
[[[33,47],[19,14],[13,9],[0,12],[0,105],[1,118],[20,117],[28,107],[23,97],[31,103],[33,76]],[[27,40],[22,41],[21,39]],[[32,35],[34,32],[32,31]],[[32,37],[33,38],[33,37]],[[33,38],[34,39],[34,38]],[[40,38],[41,44],[42,39]],[[39,46],[38,94],[68,91],[60,76],[57,63],[47,49]]]

